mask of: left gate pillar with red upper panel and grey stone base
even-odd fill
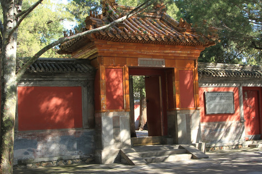
[[[129,76],[125,66],[99,66],[95,80],[98,163],[120,162],[120,149],[131,147]]]

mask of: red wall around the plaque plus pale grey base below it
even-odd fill
[[[205,91],[234,92],[233,114],[210,114],[205,112]],[[233,143],[245,141],[245,126],[240,120],[238,87],[199,87],[202,141],[205,143]]]

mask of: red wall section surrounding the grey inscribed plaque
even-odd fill
[[[213,92],[234,92],[234,114],[210,114],[206,115],[205,111],[205,91]],[[201,122],[218,122],[218,121],[237,121],[240,120],[240,107],[239,107],[239,91],[238,87],[199,87],[199,102],[200,102],[200,121]]]

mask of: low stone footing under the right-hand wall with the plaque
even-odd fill
[[[262,144],[262,140],[234,142],[234,143],[217,143],[217,144],[206,143],[206,151],[246,148],[248,146],[252,147],[252,145],[259,145],[259,144]]]

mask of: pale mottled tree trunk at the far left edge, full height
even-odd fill
[[[4,5],[3,5],[4,4]],[[4,16],[1,53],[1,127],[0,127],[0,173],[13,173],[14,130],[16,115],[16,38],[15,14],[17,6],[14,0],[1,0]],[[12,33],[12,35],[10,35]]]

